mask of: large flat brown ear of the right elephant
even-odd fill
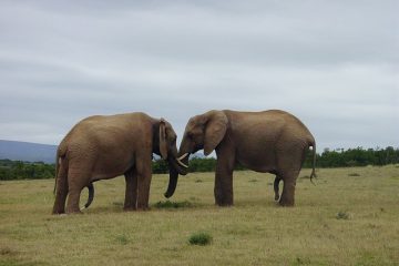
[[[221,143],[227,131],[227,116],[222,111],[213,111],[205,126],[204,154],[209,155]]]

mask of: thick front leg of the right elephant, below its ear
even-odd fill
[[[215,203],[218,206],[232,206],[233,198],[233,170],[234,170],[234,153],[217,152],[217,163],[215,173]]]

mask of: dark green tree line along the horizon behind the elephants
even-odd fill
[[[399,163],[399,149],[388,146],[386,149],[325,149],[321,154],[316,156],[316,167],[352,167]],[[309,151],[304,162],[304,167],[311,167],[313,153]],[[152,162],[154,174],[168,173],[168,165],[163,160]],[[213,172],[216,168],[216,158],[194,157],[190,160],[190,172]],[[237,165],[236,170],[245,170],[244,166]],[[39,180],[53,178],[55,175],[55,165],[42,162],[21,162],[0,160],[0,180]]]

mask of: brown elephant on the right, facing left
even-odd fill
[[[276,175],[275,200],[279,198],[282,206],[294,206],[296,180],[310,146],[311,180],[316,176],[316,142],[293,114],[280,110],[212,110],[190,119],[178,160],[188,164],[190,154],[203,149],[207,156],[216,151],[214,196],[219,206],[233,205],[233,170],[238,163],[256,172]],[[284,182],[282,197],[278,195],[279,181]]]

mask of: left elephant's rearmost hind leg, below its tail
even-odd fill
[[[60,164],[57,178],[55,187],[55,201],[52,209],[52,214],[65,213],[65,201],[68,195],[68,168]]]

